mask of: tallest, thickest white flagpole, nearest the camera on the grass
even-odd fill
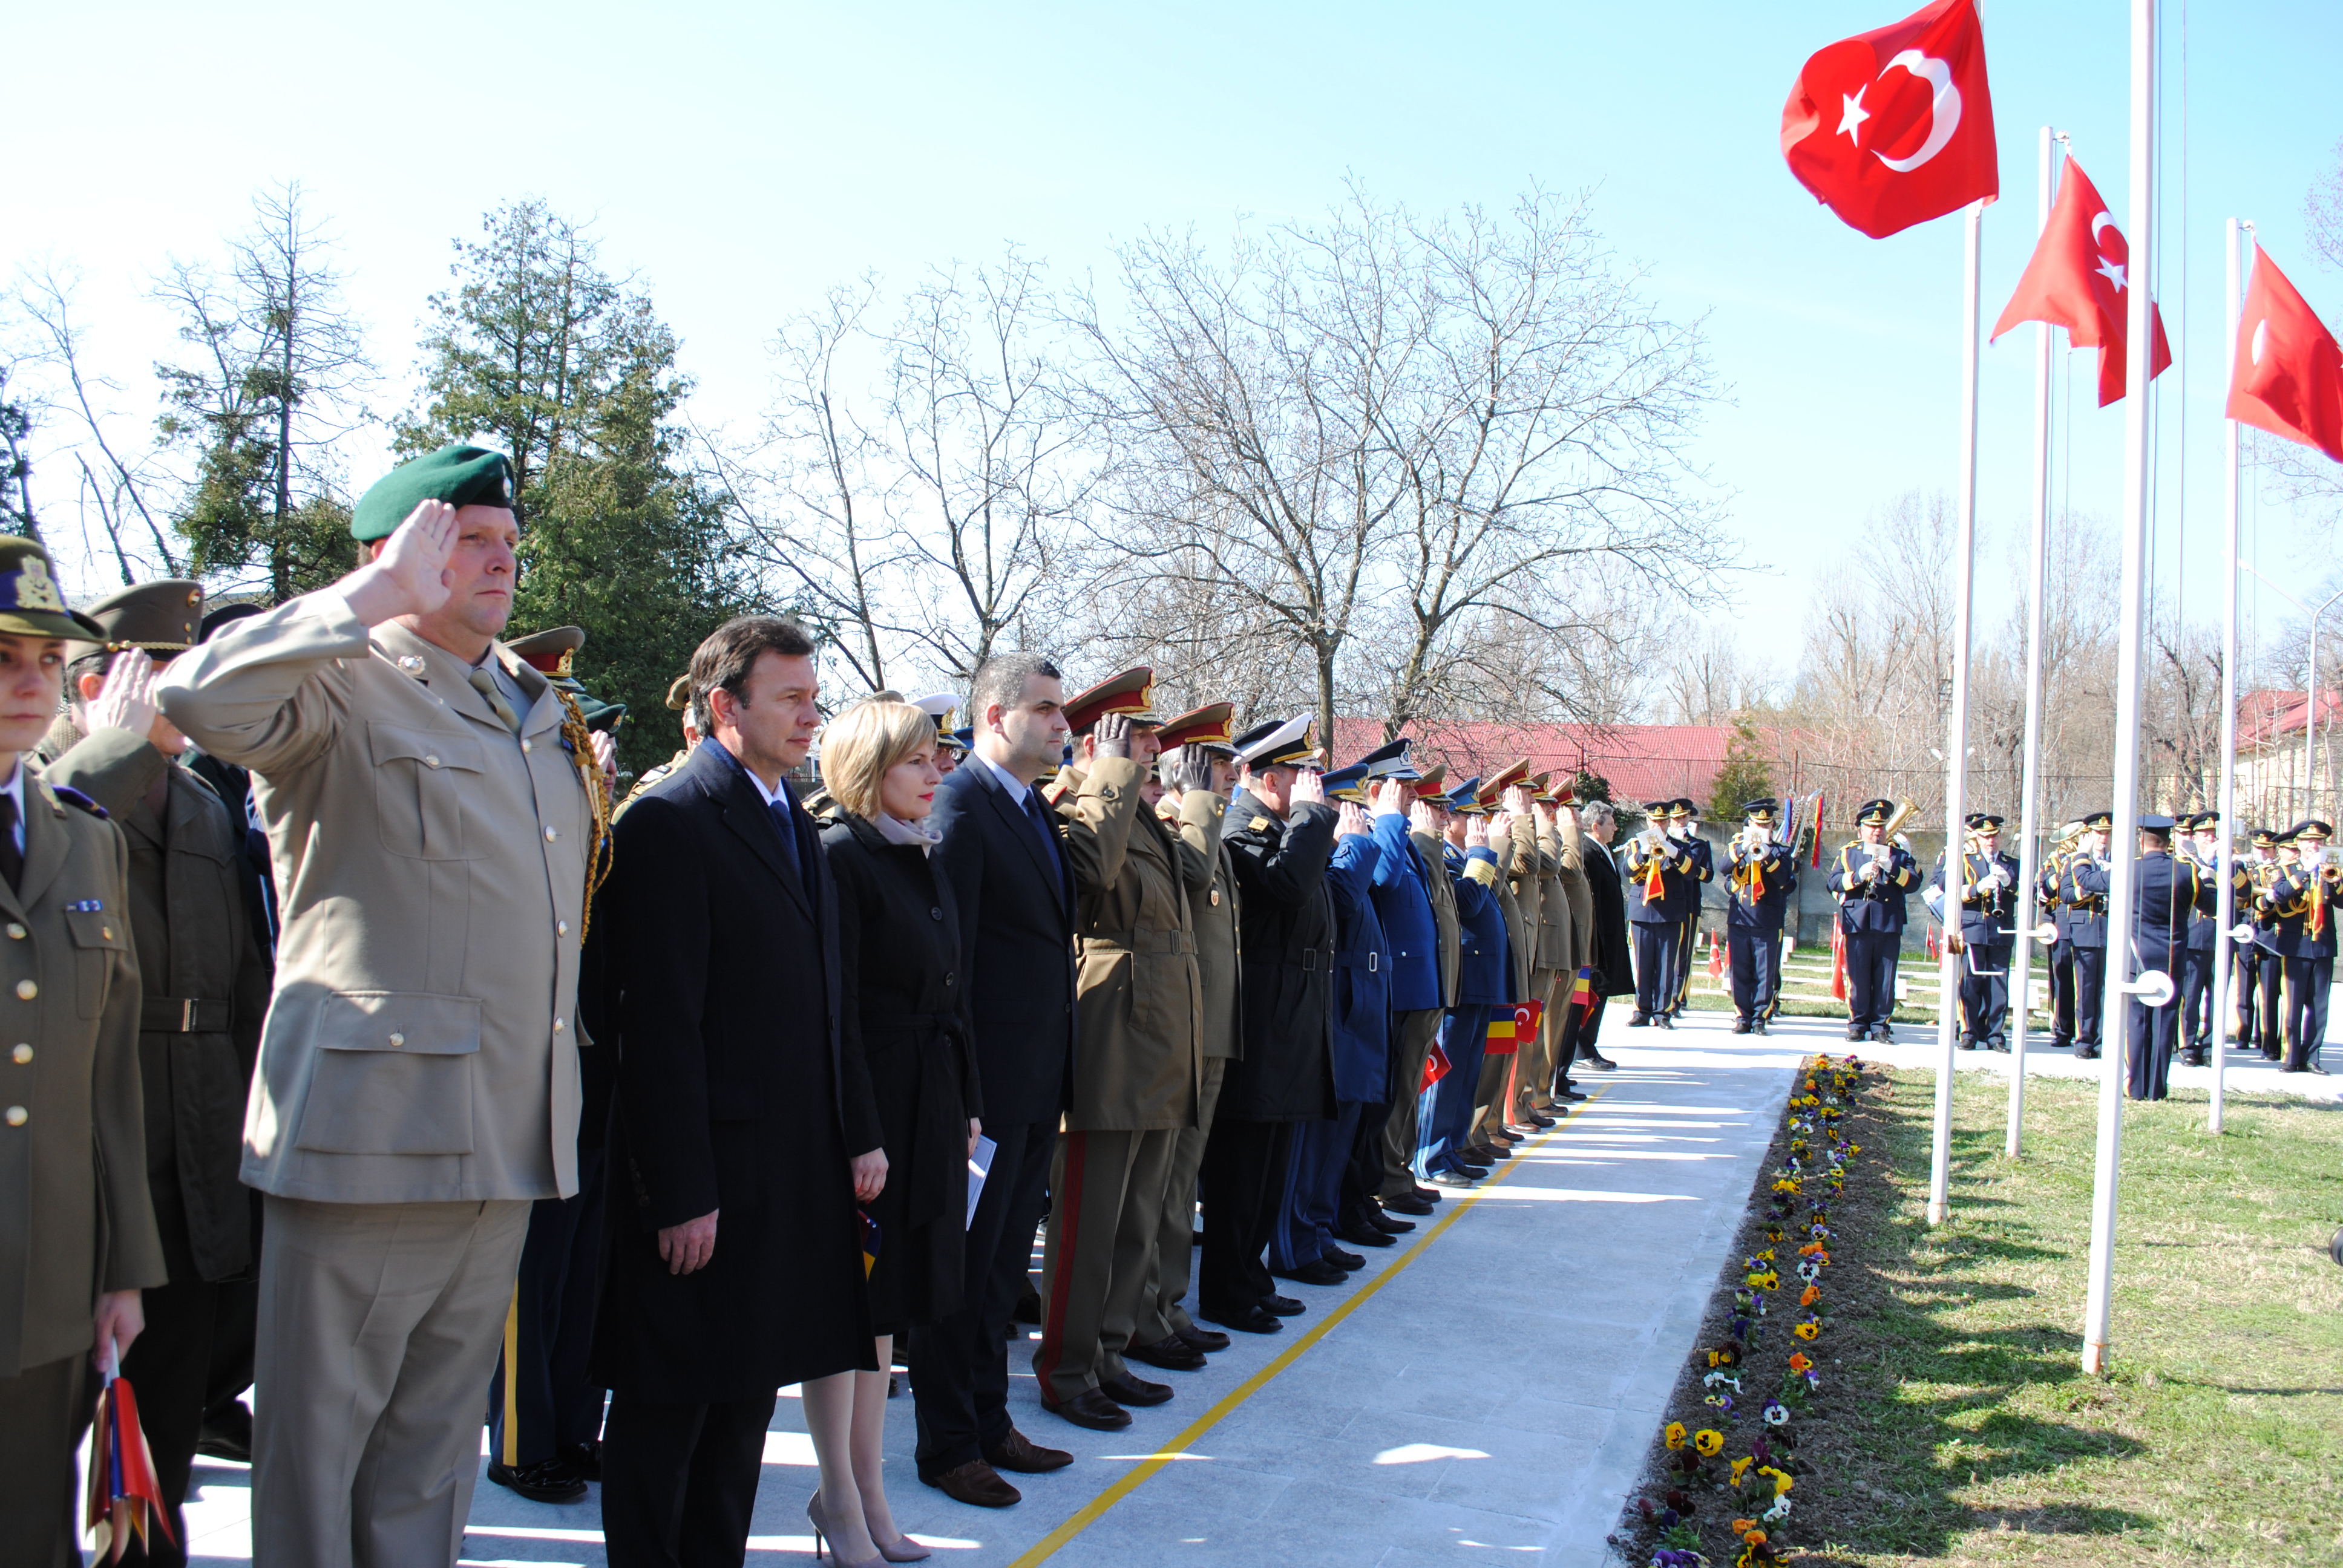
[[[2099,1005],[2099,1158],[2090,1188],[2090,1294],[2083,1301],[2083,1371],[2106,1371],[2106,1320],[2116,1291],[2116,1172],[2123,1153],[2123,1080],[2130,1055],[2132,909],[2139,902],[2139,623],[2149,555],[2149,368],[2156,363],[2156,0],[2132,0],[2132,277],[2123,403],[2123,602],[2116,642],[2116,837],[2106,898],[2109,975]]]

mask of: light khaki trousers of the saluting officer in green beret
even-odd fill
[[[265,1202],[253,1568],[455,1563],[527,1200]]]

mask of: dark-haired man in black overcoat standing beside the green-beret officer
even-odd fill
[[[867,1556],[851,1472],[829,1481],[853,1373],[874,1371],[855,1205],[886,1153],[839,1050],[836,888],[787,785],[820,722],[813,642],[738,616],[691,684],[708,738],[626,813],[588,933],[616,998],[588,1017],[614,1015],[621,1041],[602,1530],[621,1566],[738,1563],[773,1395],[801,1383],[839,1554]]]

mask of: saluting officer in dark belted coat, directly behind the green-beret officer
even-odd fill
[[[68,642],[73,703],[42,764],[52,785],[96,799],[129,844],[129,916],[145,980],[138,1076],[145,1088],[145,1170],[171,1280],[143,1298],[145,1334],[122,1362],[155,1453],[171,1538],[150,1535],[145,1561],[183,1563],[187,1495],[206,1406],[253,1378],[260,1235],[251,1188],[237,1181],[244,1099],[269,952],[239,855],[244,823],[178,759],[187,738],[155,708],[155,670],[187,652],[204,588],[162,579],[87,609],[105,642]]]

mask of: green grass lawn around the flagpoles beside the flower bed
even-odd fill
[[[2006,1160],[2001,1080],[1963,1078],[1938,1230],[1931,1097],[1884,1073],[1853,1118],[1792,1561],[2343,1563],[2343,1106],[2233,1095],[2212,1137],[2200,1092],[2125,1102],[2113,1373],[2088,1378],[2097,1088],[2034,1078]]]

